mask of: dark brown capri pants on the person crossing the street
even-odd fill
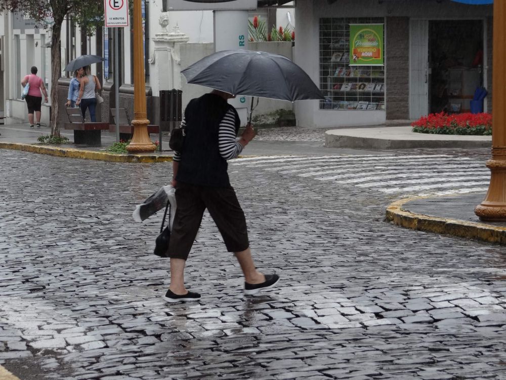
[[[188,258],[206,208],[218,226],[229,252],[241,252],[249,247],[246,218],[233,187],[178,182],[176,203],[167,257]]]

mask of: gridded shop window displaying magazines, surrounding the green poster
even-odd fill
[[[370,17],[320,19],[320,89],[326,99],[320,109],[385,109],[385,67],[350,65],[350,24],[383,23]]]

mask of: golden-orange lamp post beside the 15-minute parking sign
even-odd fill
[[[142,51],[141,0],[134,0],[134,136],[126,150],[130,153],[150,152],[156,149],[148,134],[146,115],[146,82],[144,79],[144,54]]]

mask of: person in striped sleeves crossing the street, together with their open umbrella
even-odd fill
[[[237,157],[255,137],[249,123],[239,140],[239,116],[227,100],[235,95],[281,100],[324,100],[304,70],[288,58],[266,52],[226,50],[202,58],[182,71],[188,83],[214,89],[192,99],[185,109],[183,149],[173,161],[177,210],[167,257],[171,258],[168,302],[200,298],[184,285],[184,268],[202,215],[207,208],[227,250],[233,252],[244,274],[244,293],[254,295],[274,286],[276,274],[257,271],[251,258],[244,212],[227,173],[227,160]]]

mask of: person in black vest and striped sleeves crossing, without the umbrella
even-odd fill
[[[177,209],[166,253],[171,258],[171,284],[164,297],[168,302],[200,298],[185,288],[184,269],[205,209],[218,226],[227,250],[239,261],[245,294],[256,294],[279,281],[278,275],[264,275],[255,267],[244,212],[228,177],[227,160],[237,157],[255,137],[248,124],[236,140],[240,120],[227,103],[233,97],[213,90],[192,99],[185,109],[183,149],[175,153],[173,161]]]

